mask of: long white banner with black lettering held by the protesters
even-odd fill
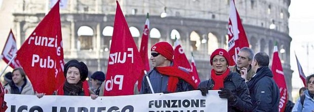
[[[220,98],[217,90],[211,90],[207,96],[201,91],[188,91],[171,94],[142,94],[128,96],[104,96],[92,100],[88,96],[6,94],[6,111],[90,111],[90,112],[197,112],[227,111],[227,99]]]

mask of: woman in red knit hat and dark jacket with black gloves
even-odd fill
[[[228,111],[252,111],[248,86],[238,73],[230,71],[228,62],[230,58],[226,50],[215,50],[210,57],[211,79],[201,82],[198,89],[203,96],[208,90],[221,90],[218,94],[228,99]]]

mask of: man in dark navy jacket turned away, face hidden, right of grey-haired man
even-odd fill
[[[264,52],[259,52],[254,56],[252,69],[255,74],[247,82],[253,111],[278,111],[279,106],[279,89],[272,79],[273,74],[268,68],[269,57]]]

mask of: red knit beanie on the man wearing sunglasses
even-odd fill
[[[156,51],[166,57],[168,60],[173,60],[173,48],[168,42],[159,42],[153,45],[150,51]]]

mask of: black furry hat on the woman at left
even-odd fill
[[[69,67],[74,66],[80,71],[81,81],[85,81],[88,76],[88,68],[84,62],[78,62],[77,60],[70,60],[64,65],[64,77],[66,78],[66,72]]]

